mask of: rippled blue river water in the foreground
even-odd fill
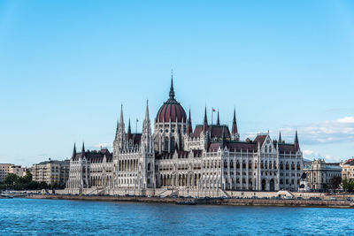
[[[344,235],[354,209],[0,199],[0,234]]]

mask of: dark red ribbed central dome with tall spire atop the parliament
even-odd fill
[[[170,98],[158,110],[157,122],[186,122],[187,115],[180,103],[174,99],[173,79],[171,79]]]

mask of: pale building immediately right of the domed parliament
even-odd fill
[[[342,167],[339,163],[326,163],[324,159],[313,160],[304,165],[307,184],[313,191],[331,188],[334,178],[342,178]]]

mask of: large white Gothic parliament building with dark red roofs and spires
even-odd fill
[[[240,140],[235,110],[232,126],[207,119],[192,126],[175,99],[169,97],[150,124],[146,104],[142,133],[127,129],[123,109],[112,153],[73,148],[66,190],[72,194],[228,195],[230,191],[296,191],[303,168],[297,132],[294,143],[260,133]],[[153,128],[153,130],[152,130]],[[231,129],[230,129],[231,128]]]

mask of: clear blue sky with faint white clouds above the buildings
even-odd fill
[[[112,146],[120,103],[153,119],[172,68],[193,125],[235,107],[242,139],[297,128],[304,157],[344,160],[353,65],[350,1],[0,1],[0,163]]]

